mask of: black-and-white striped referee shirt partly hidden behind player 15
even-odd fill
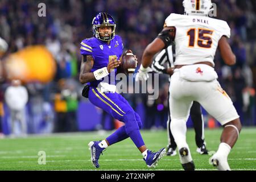
[[[167,68],[174,68],[175,61],[175,46],[171,44],[166,49],[163,49],[154,57],[152,63],[152,70],[156,73],[166,73]],[[167,63],[167,68],[164,67],[164,64]]]

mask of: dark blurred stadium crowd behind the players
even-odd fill
[[[46,4],[46,16],[38,16],[38,4]],[[226,20],[232,29],[230,44],[237,56],[237,64],[227,67],[216,53],[216,71],[224,90],[232,98],[241,115],[243,125],[255,125],[256,81],[256,1],[216,0],[217,18]],[[56,63],[52,81],[27,82],[29,122],[40,118],[53,123],[48,132],[79,130],[76,111],[80,102],[82,85],[79,83],[82,39],[92,36],[91,22],[100,11],[112,14],[117,23],[116,33],[121,35],[125,48],[141,59],[143,49],[162,30],[170,13],[183,14],[181,0],[1,0],[0,36],[9,44],[2,60],[9,54],[31,45],[45,45]],[[40,56],[40,55],[38,55]],[[8,74],[8,73],[7,73]],[[10,80],[1,78],[0,102],[5,103],[4,93]],[[143,104],[147,111],[144,129],[166,127],[168,113],[168,76],[160,76],[158,100],[147,100],[147,95],[125,94],[131,106]],[[51,109],[52,108],[52,109]],[[3,117],[4,111],[1,111]],[[44,124],[42,124],[44,125]],[[38,133],[30,127],[29,133]]]

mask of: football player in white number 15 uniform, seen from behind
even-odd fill
[[[225,21],[209,18],[210,0],[184,0],[184,14],[170,14],[162,32],[143,52],[136,80],[144,80],[152,57],[172,41],[176,45],[174,75],[171,77],[171,131],[185,170],[194,170],[186,142],[186,122],[192,102],[197,101],[224,127],[217,152],[210,158],[219,170],[230,170],[228,155],[241,131],[240,117],[214,71],[217,47],[227,65],[236,63],[229,46],[230,28]]]

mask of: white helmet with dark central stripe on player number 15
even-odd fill
[[[211,0],[184,0],[184,14],[185,15],[201,15],[208,16],[209,12],[213,10]]]

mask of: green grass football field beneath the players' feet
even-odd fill
[[[100,140],[110,133],[97,132],[67,133],[53,135],[31,135],[26,138],[0,139],[0,170],[95,170],[90,162],[87,144]],[[216,151],[221,129],[205,130],[209,151]],[[166,130],[142,131],[144,142],[150,150],[159,150],[167,145]],[[209,155],[196,152],[195,132],[189,129],[187,140],[197,170],[216,170],[208,159]],[[43,157],[38,154],[44,151]],[[39,162],[39,163],[38,163]],[[256,170],[256,128],[243,128],[240,138],[229,154],[233,170]],[[130,139],[110,146],[100,157],[101,167],[97,170],[181,170],[178,156],[164,156],[156,168],[147,168],[142,155]]]

